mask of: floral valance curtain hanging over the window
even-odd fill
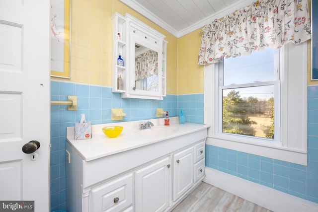
[[[257,0],[202,29],[198,64],[311,38],[308,0]]]

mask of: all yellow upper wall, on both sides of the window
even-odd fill
[[[72,0],[71,12],[71,79],[58,79],[111,86],[113,61],[111,16],[114,12],[122,15],[128,12],[166,36],[167,93],[204,92],[203,66],[197,65],[201,42],[200,29],[176,38],[119,0]],[[308,84],[318,84],[317,80],[310,80],[310,41],[308,53]]]

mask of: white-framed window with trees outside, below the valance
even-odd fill
[[[257,53],[204,67],[207,144],[307,165],[307,43]]]

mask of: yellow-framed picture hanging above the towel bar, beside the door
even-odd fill
[[[71,78],[71,0],[51,1],[51,76]]]

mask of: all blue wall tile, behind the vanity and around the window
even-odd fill
[[[203,123],[203,94],[167,95],[163,100],[121,99],[111,88],[68,82],[51,82],[51,100],[78,96],[78,110],[51,106],[51,210],[66,210],[66,127],[84,113],[93,124],[111,123],[111,108],[123,108],[123,121],[155,119],[156,108],[171,117],[184,110],[187,122]],[[308,166],[259,155],[206,146],[206,166],[318,203],[318,86],[308,87]]]

